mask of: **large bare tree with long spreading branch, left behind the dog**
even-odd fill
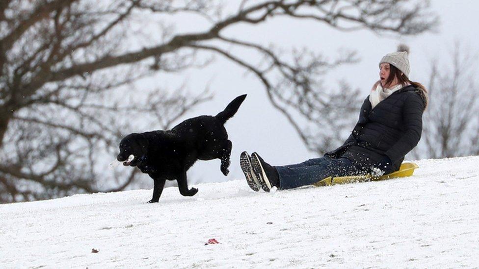
[[[205,101],[161,95],[171,90],[135,90],[135,81],[154,73],[176,73],[209,63],[206,54],[226,57],[253,73],[272,105],[293,124],[304,143],[321,151],[340,140],[353,92],[343,85],[325,91],[321,77],[355,52],[337,59],[308,50],[283,55],[272,47],[224,34],[237,24],[260,24],[271,17],[308,19],[339,30],[419,34],[436,24],[425,1],[268,0],[238,2],[226,16],[215,0],[2,0],[0,3],[0,199],[16,201],[78,192],[122,190],[136,171],[104,172],[105,154],[140,122],[140,115],[166,127],[191,106]],[[206,30],[175,33],[171,15],[201,18]],[[148,19],[145,19],[148,18]],[[154,18],[157,24],[135,27]],[[154,34],[152,34],[152,31]],[[250,49],[246,59],[229,48]],[[199,56],[199,53],[202,53]],[[206,54],[205,54],[206,53]],[[150,117],[152,118],[152,117]],[[303,124],[306,123],[306,124]],[[306,126],[306,127],[303,127]],[[319,128],[318,128],[319,126]],[[326,127],[327,126],[327,127]],[[161,127],[161,125],[159,126]],[[319,131],[318,131],[319,130]],[[318,143],[321,141],[321,143]],[[110,184],[111,185],[111,184]]]

